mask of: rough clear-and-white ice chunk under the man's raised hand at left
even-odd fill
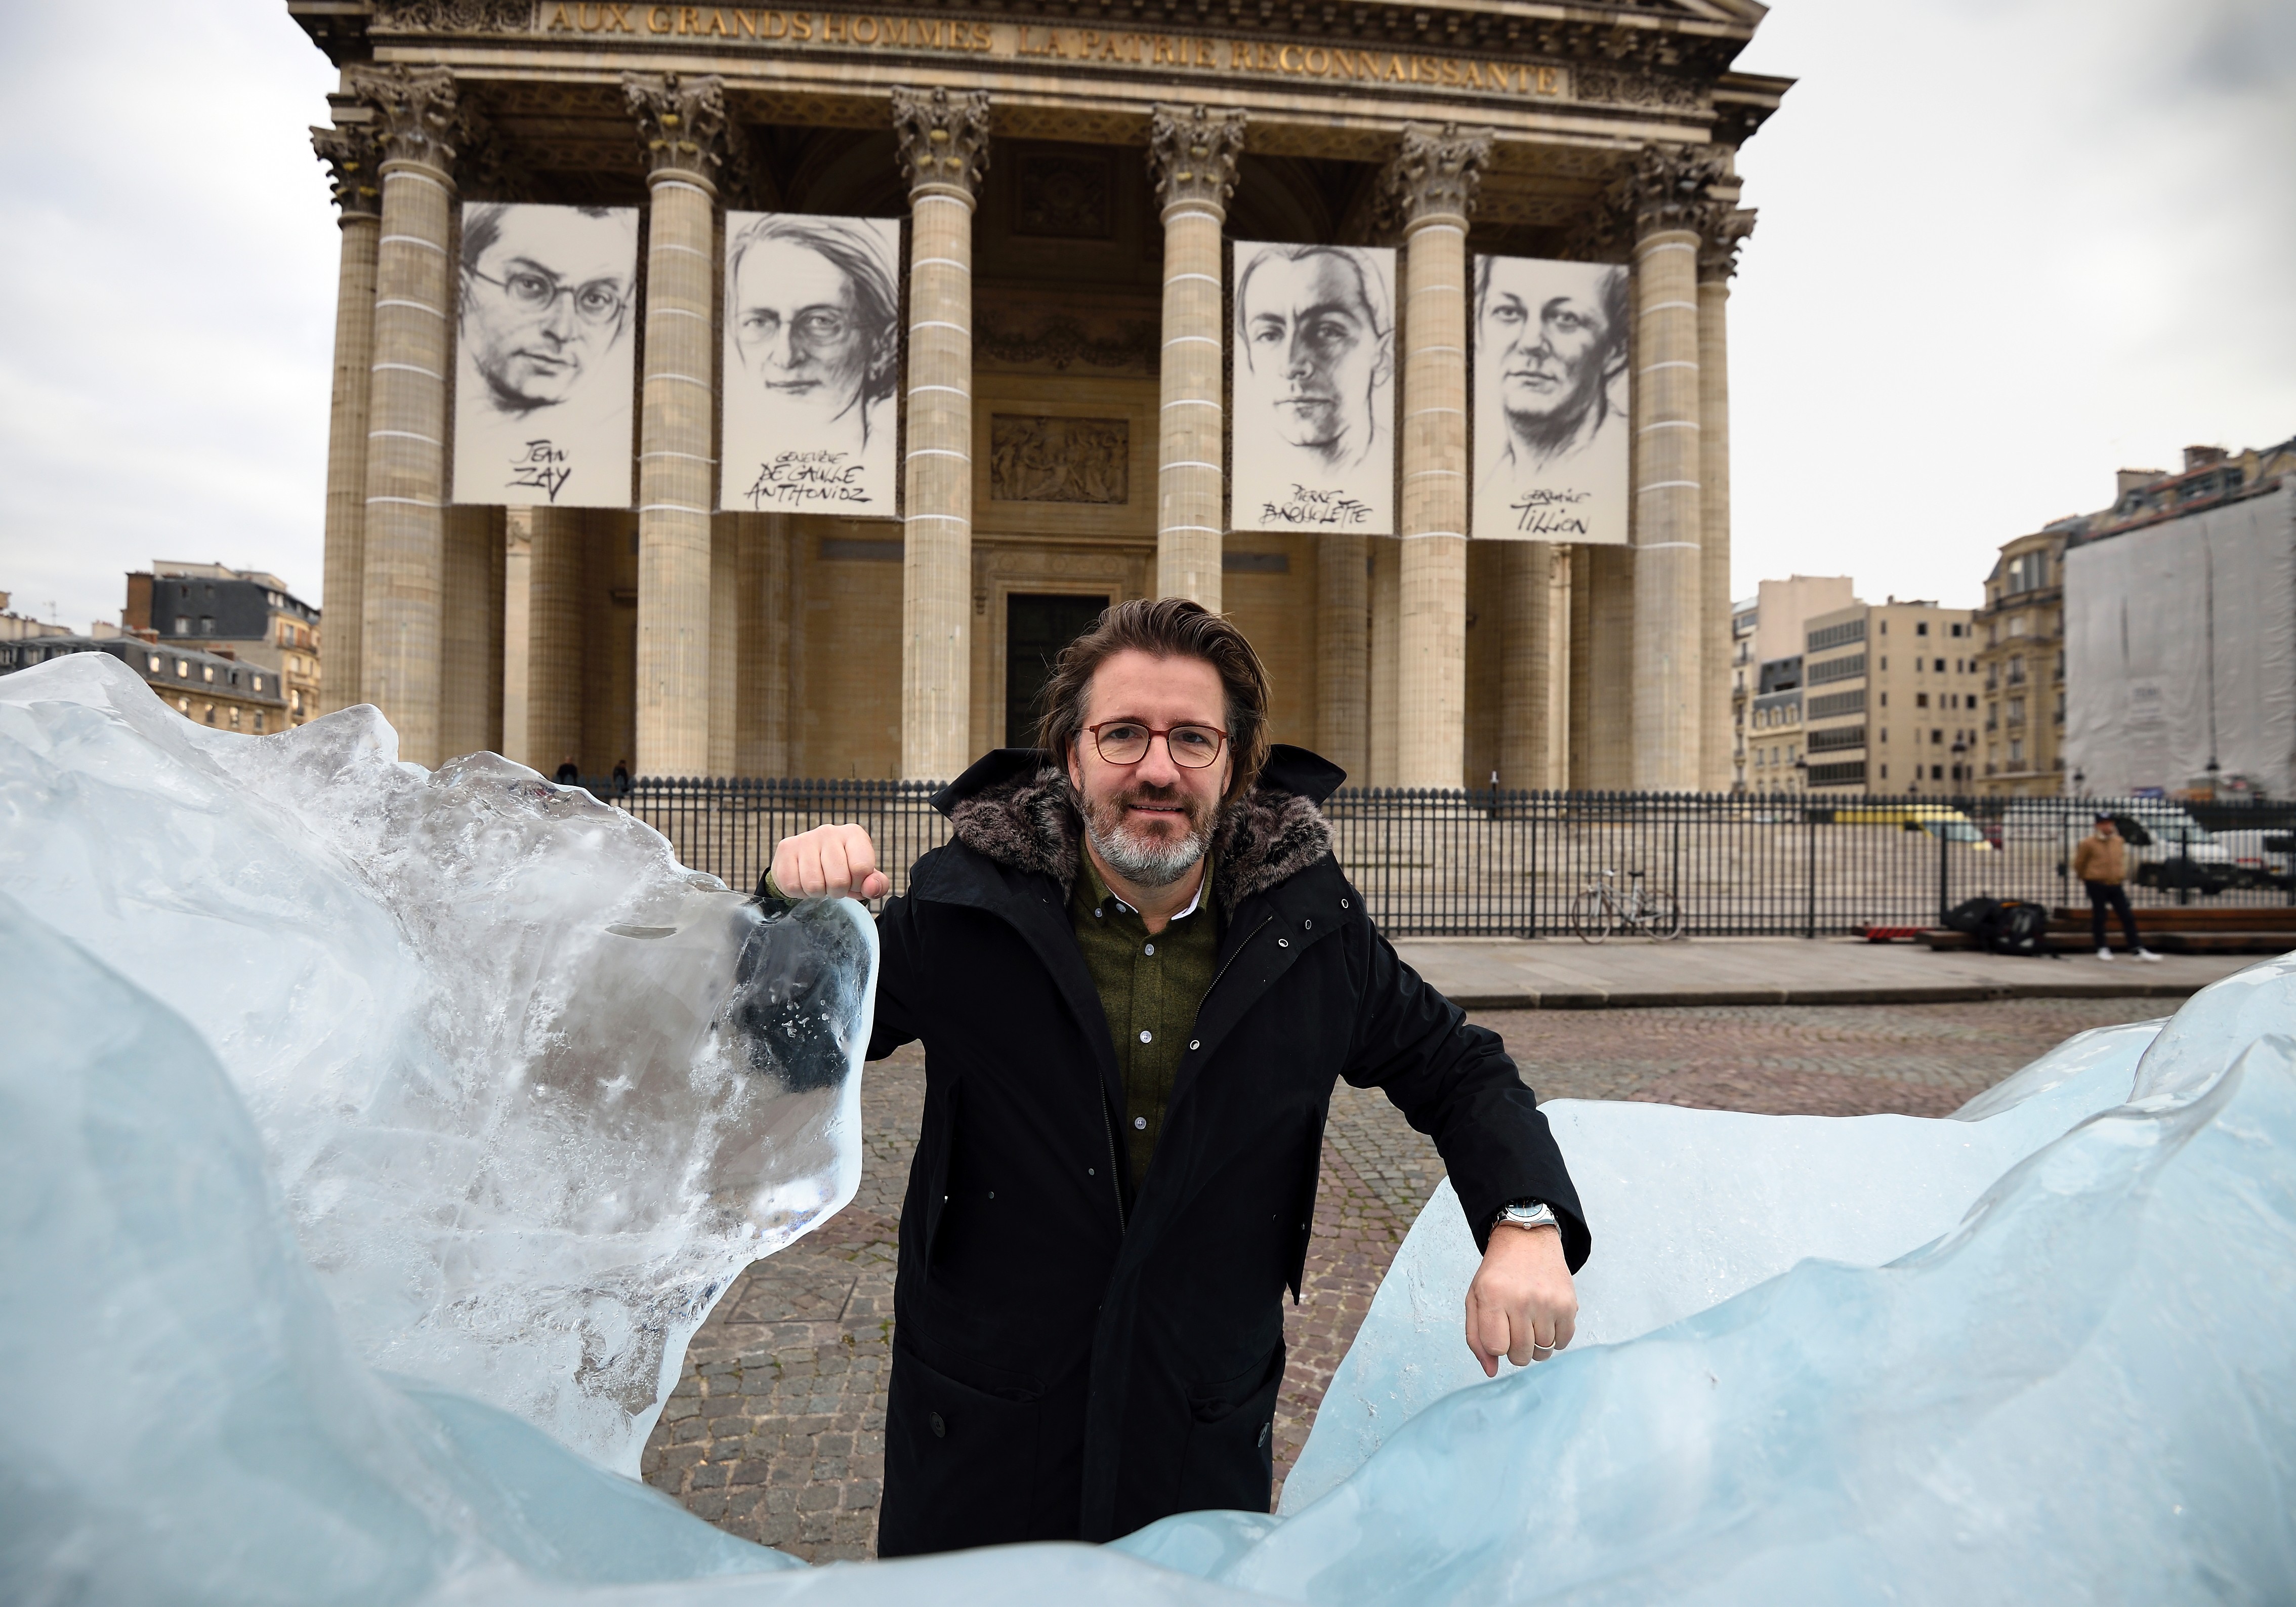
[[[367,1364],[636,1474],[728,1279],[859,1185],[875,927],[395,751],[367,707],[236,737],[55,659],[0,680],[0,888],[214,1047]]]

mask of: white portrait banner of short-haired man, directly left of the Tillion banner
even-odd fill
[[[1233,530],[1396,533],[1396,253],[1235,246]]]

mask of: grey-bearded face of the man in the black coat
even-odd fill
[[[1219,670],[1203,659],[1157,659],[1118,652],[1095,673],[1084,700],[1084,723],[1139,721],[1153,730],[1212,725],[1226,730],[1228,700]],[[1212,843],[1212,820],[1228,790],[1233,755],[1201,769],[1171,762],[1157,737],[1132,764],[1109,764],[1086,730],[1068,755],[1068,778],[1084,799],[1084,826],[1116,875],[1141,886],[1169,886],[1203,859]]]

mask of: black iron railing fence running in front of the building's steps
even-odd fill
[[[592,790],[645,820],[696,870],[748,888],[774,845],[829,822],[877,843],[898,893],[948,840],[923,781],[657,781]],[[1561,937],[1600,872],[1671,893],[1688,932],[1830,937],[1929,927],[1965,898],[2078,905],[2073,845],[2119,813],[2142,905],[2296,905],[2296,806],[2082,799],[1412,792],[1332,797],[1339,863],[1396,937]],[[2206,824],[2202,824],[2202,820]]]

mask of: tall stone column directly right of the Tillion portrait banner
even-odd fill
[[[1635,778],[1699,785],[1704,661],[1699,505],[1699,220],[1715,152],[1642,149],[1635,204]]]

